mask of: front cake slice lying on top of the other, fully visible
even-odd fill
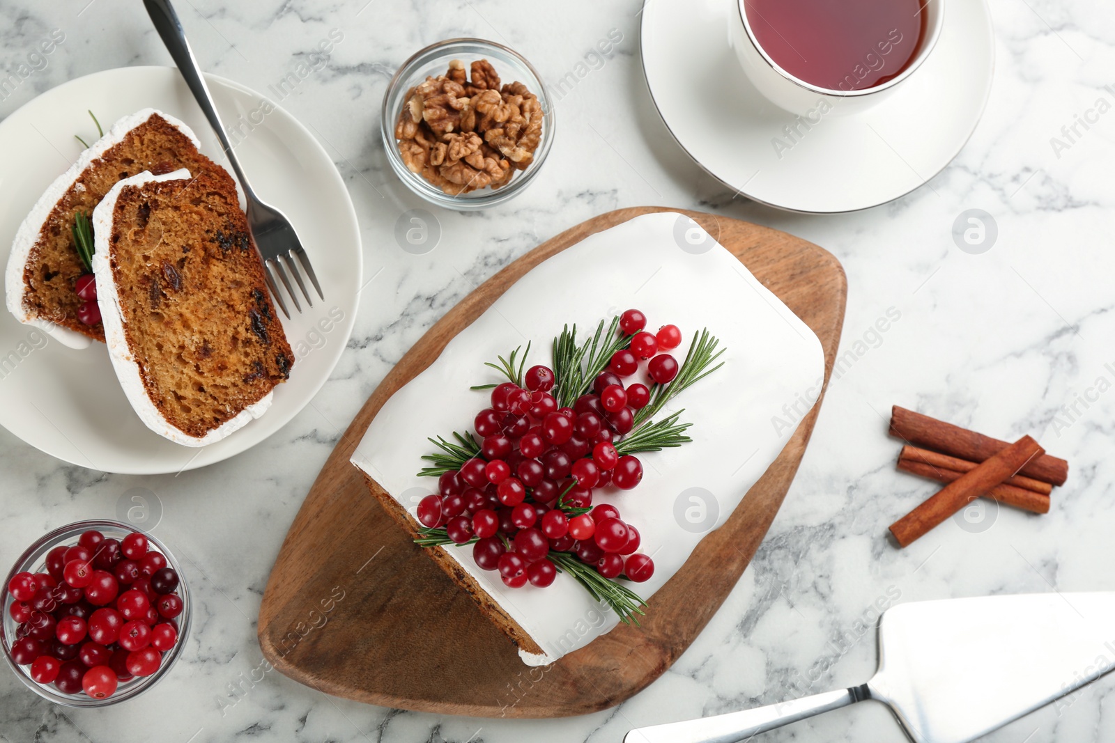
[[[126,178],[94,211],[93,231],[108,352],[144,423],[200,447],[262,416],[294,354],[232,177]]]

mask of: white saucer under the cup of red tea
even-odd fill
[[[811,213],[884,204],[948,165],[983,113],[991,17],[983,0],[949,0],[937,48],[892,96],[860,115],[815,114],[791,139],[795,117],[755,90],[730,46],[736,2],[647,0],[642,67],[682,149],[748,198]]]

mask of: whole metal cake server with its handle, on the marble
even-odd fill
[[[915,743],[967,743],[1115,668],[1115,593],[989,596],[883,613],[862,686],[632,730],[624,743],[737,743],[876,700]],[[757,742],[756,742],[757,743]]]

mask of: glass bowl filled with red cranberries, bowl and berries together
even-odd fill
[[[39,696],[97,707],[142,694],[190,632],[190,590],[171,550],[119,521],[47,534],[3,584],[0,645]]]

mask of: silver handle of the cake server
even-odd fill
[[[870,692],[864,684],[755,710],[638,727],[623,737],[623,743],[738,743],[768,730],[846,707],[866,698],[870,698]]]

